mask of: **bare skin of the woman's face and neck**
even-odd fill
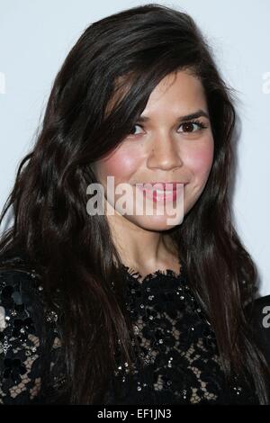
[[[202,83],[196,76],[185,70],[160,81],[141,113],[149,120],[136,124],[108,157],[94,163],[95,175],[104,187],[106,214],[113,208],[107,200],[108,175],[114,176],[115,186],[186,182],[184,215],[193,207],[211,171],[214,148],[211,122],[208,117],[197,118],[206,126],[200,129],[194,123],[183,125],[178,118],[198,110],[209,113]],[[133,186],[133,199],[135,192]],[[115,201],[119,196],[115,195]],[[166,213],[163,216],[122,215],[114,210],[114,215],[107,218],[115,246],[126,266],[142,276],[157,269],[179,272],[175,248],[166,233],[172,229],[167,224]]]

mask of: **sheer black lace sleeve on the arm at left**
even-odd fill
[[[39,402],[43,318],[31,279],[21,270],[0,270],[0,404]]]

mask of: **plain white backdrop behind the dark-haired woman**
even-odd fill
[[[0,0],[0,207],[29,151],[54,77],[86,26],[150,2]],[[241,135],[233,211],[270,293],[270,1],[159,1],[191,14],[210,41],[225,81],[238,91]],[[3,227],[2,227],[3,230]]]

